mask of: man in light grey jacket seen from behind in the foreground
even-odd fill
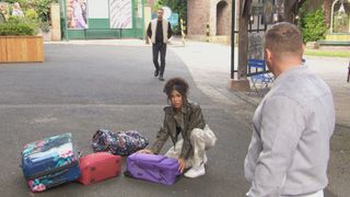
[[[278,23],[265,35],[276,81],[257,107],[244,163],[249,197],[323,197],[335,106],[328,85],[302,63],[299,28]]]

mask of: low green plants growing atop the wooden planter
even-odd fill
[[[23,18],[10,16],[9,21],[0,24],[0,35],[36,35],[37,24]]]

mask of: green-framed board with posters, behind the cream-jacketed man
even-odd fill
[[[144,0],[60,0],[63,39],[144,37]]]

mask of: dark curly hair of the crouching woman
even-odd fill
[[[188,89],[188,83],[183,78],[172,78],[165,83],[163,92],[167,95],[167,99],[171,99],[173,90],[176,90],[186,101]]]

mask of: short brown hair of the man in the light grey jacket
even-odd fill
[[[278,58],[283,58],[284,54],[302,56],[302,33],[292,23],[277,23],[265,34],[265,48],[269,49]]]

